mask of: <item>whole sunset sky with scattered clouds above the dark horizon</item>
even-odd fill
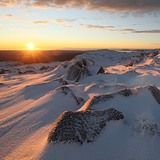
[[[0,2],[0,50],[160,48],[158,1],[61,2]]]

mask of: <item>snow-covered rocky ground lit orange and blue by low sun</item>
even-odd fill
[[[104,73],[97,74],[101,67]],[[50,64],[1,62],[0,73],[0,159],[159,160],[160,51],[99,50]],[[159,89],[159,101],[150,86]],[[125,89],[132,94],[121,94]],[[107,122],[93,142],[47,141],[62,112],[109,108],[124,120]]]

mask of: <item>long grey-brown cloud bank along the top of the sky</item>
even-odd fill
[[[160,12],[160,0],[1,0],[0,5],[23,3],[39,7],[83,7],[103,11]]]

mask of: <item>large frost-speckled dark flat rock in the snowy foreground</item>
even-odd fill
[[[49,142],[79,144],[93,142],[110,120],[121,120],[121,112],[110,108],[105,111],[65,111],[53,123]]]

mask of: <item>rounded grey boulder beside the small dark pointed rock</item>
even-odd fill
[[[67,72],[67,80],[74,80],[78,82],[81,78],[89,76],[90,72],[87,69],[87,62],[85,59],[76,61],[71,65]]]

